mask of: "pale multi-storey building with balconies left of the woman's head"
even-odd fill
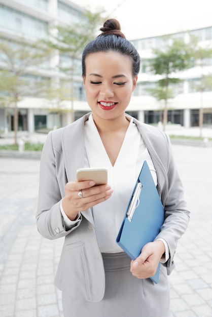
[[[45,39],[52,25],[64,26],[80,22],[83,11],[83,8],[69,0],[0,0],[0,41],[9,39],[11,42],[18,42],[24,38],[26,42],[33,43],[38,39]],[[25,74],[30,87],[33,88],[42,81],[54,81],[61,87],[65,87],[70,94],[70,83],[65,81],[64,73],[57,67],[65,66],[66,62],[69,62],[68,58],[55,52],[40,68],[30,69]],[[74,95],[77,99],[75,107],[84,110],[85,95],[81,77],[81,59],[76,63],[79,75],[74,78]],[[4,69],[1,54],[0,69]],[[1,94],[4,96],[4,92]],[[80,103],[80,100],[84,101]],[[0,99],[0,131],[7,130],[9,123],[13,130],[13,107],[12,105],[4,107]],[[18,102],[18,130],[27,130],[32,133],[38,129],[52,129],[55,126],[66,125],[70,101],[63,101],[59,107],[61,111],[57,111],[58,105],[55,102],[42,98],[42,94],[33,96],[31,93],[29,95],[26,93]]]

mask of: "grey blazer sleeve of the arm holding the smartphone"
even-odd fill
[[[40,163],[39,199],[37,210],[38,231],[47,239],[53,240],[65,236],[75,230],[82,220],[69,230],[60,212],[60,201],[64,196],[64,186],[67,183],[62,149],[53,148],[52,132],[44,144]],[[82,217],[82,216],[81,216]]]

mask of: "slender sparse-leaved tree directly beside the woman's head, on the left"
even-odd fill
[[[76,75],[76,59],[81,58],[85,45],[95,37],[97,25],[102,20],[102,9],[99,12],[91,13],[86,11],[79,23],[68,26],[53,26],[49,32],[48,40],[43,40],[48,47],[57,50],[60,54],[69,57],[69,64],[59,69],[65,73],[70,80],[70,122],[74,121],[74,79]]]

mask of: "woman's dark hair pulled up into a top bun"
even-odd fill
[[[114,51],[129,56],[132,60],[132,74],[136,76],[140,69],[140,56],[134,46],[121,32],[119,21],[109,19],[100,28],[101,33],[86,45],[82,55],[82,74],[85,76],[85,58],[88,54]]]

